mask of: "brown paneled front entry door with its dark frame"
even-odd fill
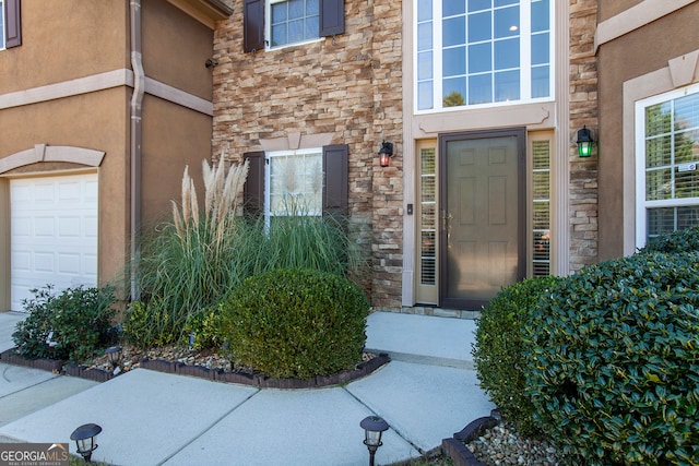
[[[479,309],[524,277],[523,129],[440,136],[440,306]]]

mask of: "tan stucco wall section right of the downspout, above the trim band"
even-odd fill
[[[142,29],[145,74],[211,100],[213,31],[163,0],[142,0]]]

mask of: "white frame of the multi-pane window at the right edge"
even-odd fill
[[[636,248],[645,246],[648,207],[699,205],[699,198],[682,198],[661,201],[645,201],[645,108],[673,100],[690,94],[699,93],[699,84],[659,94],[653,97],[636,101],[635,134],[636,134]]]

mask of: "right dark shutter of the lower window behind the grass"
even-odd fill
[[[347,215],[348,147],[347,144],[323,146],[323,214]]]

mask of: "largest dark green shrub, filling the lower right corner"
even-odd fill
[[[699,464],[699,254],[588,266],[526,325],[536,420],[585,464]]]

